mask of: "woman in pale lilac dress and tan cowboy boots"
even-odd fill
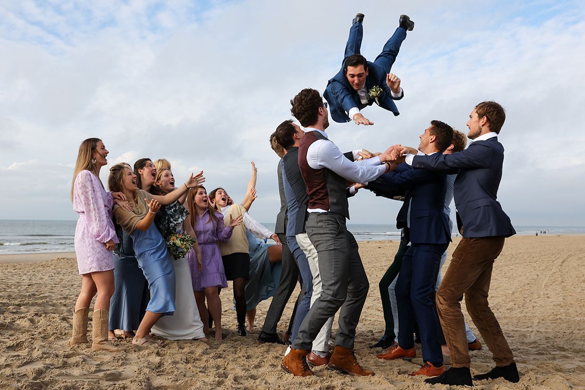
[[[112,250],[118,243],[112,223],[112,193],[106,192],[99,171],[106,165],[108,150],[97,138],[84,140],[79,147],[71,200],[79,214],[75,227],[75,255],[81,275],[81,292],[73,310],[73,336],[69,344],[88,343],[90,303],[97,294],[93,313],[94,351],[119,351],[108,342],[108,310],[113,294]],[[125,199],[117,194],[119,199]]]

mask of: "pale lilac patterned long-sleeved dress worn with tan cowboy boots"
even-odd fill
[[[118,243],[112,222],[112,194],[90,171],[81,171],[73,185],[73,209],[79,214],[75,227],[75,255],[79,274],[113,270],[112,251],[104,245]]]

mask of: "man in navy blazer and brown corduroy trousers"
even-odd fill
[[[473,379],[504,378],[518,382],[514,356],[494,313],[488,306],[491,272],[504,240],[515,234],[510,218],[497,201],[502,177],[504,147],[498,134],[504,124],[504,108],[496,102],[482,102],[467,121],[467,137],[474,140],[466,150],[454,154],[413,156],[405,161],[417,170],[459,172],[455,179],[455,206],[463,223],[463,239],[436,294],[439,319],[451,355],[451,368],[431,384],[472,385],[463,313],[467,312],[493,354],[496,367]]]

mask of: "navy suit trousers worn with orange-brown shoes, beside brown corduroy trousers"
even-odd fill
[[[398,344],[414,347],[414,319],[417,319],[423,361],[443,362],[437,334],[438,318],[432,298],[441,256],[449,244],[411,244],[402,257],[396,282],[398,303]]]

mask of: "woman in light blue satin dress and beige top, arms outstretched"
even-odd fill
[[[132,210],[115,207],[116,222],[132,237],[133,248],[140,268],[149,282],[150,301],[146,313],[136,330],[132,344],[158,345],[149,336],[150,329],[163,315],[176,310],[176,280],[173,264],[163,236],[154,225],[154,216],[161,204],[169,205],[180,198],[189,188],[198,185],[202,172],[188,178],[185,184],[160,196],[152,195],[137,187],[137,175],[127,164],[116,164],[110,169],[108,187],[121,191],[129,200]],[[155,176],[156,178],[156,176]]]

